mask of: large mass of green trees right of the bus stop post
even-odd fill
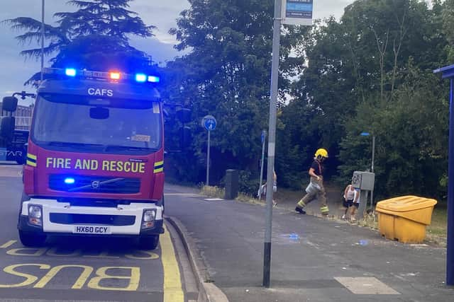
[[[310,161],[318,144],[329,149],[331,170],[338,166],[334,176],[345,185],[354,170],[370,168],[372,144],[359,135],[367,131],[377,139],[379,198],[443,197],[447,89],[432,70],[448,63],[453,4],[359,0],[340,21],[314,26],[304,41],[308,66],[282,110],[281,160],[291,175],[299,175],[296,159]]]

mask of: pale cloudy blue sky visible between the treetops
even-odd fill
[[[0,21],[19,16],[38,20],[41,18],[41,0],[1,0],[1,2]],[[340,18],[343,8],[351,3],[353,0],[314,0],[314,18],[327,18],[331,15]],[[181,55],[175,50],[175,38],[168,31],[176,27],[179,13],[187,8],[189,8],[187,0],[132,1],[131,11],[139,13],[145,24],[155,25],[157,29],[154,30],[155,37],[134,38],[131,45],[147,52],[155,62],[161,64]],[[52,15],[55,12],[72,10],[74,8],[68,6],[65,0],[45,0],[45,23],[52,23]],[[0,23],[0,97],[11,95],[15,91],[33,92],[33,88],[24,87],[23,83],[40,69],[39,61],[25,59],[19,55],[21,50],[35,46],[18,45],[14,37],[19,34],[21,32],[14,32],[9,25]]]

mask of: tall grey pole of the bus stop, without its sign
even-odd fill
[[[272,179],[275,170],[276,147],[276,103],[277,81],[279,79],[279,45],[281,34],[282,0],[275,0],[275,20],[272,30],[272,64],[270,91],[270,124],[268,129],[268,164],[267,164],[267,206],[265,214],[265,242],[263,243],[263,286],[270,288],[271,267],[271,224],[272,224]]]

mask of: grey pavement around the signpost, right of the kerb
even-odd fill
[[[182,222],[206,265],[206,281],[229,301],[454,300],[454,289],[444,284],[445,248],[405,245],[345,221],[296,214],[295,201],[273,210],[271,288],[265,289],[265,207],[207,201],[175,185],[165,193],[166,214]]]

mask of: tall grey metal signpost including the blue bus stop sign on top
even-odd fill
[[[282,5],[284,4],[284,5]],[[310,11],[310,13],[309,13]],[[282,16],[284,18],[282,19]],[[270,122],[268,129],[267,180],[273,179],[275,170],[277,80],[279,74],[279,47],[281,23],[312,25],[312,0],[275,0],[275,18],[272,30],[272,62],[270,91]],[[309,22],[310,19],[310,22]],[[263,286],[270,287],[271,232],[272,232],[272,181],[267,181],[267,206],[265,213],[265,240],[263,243]]]

